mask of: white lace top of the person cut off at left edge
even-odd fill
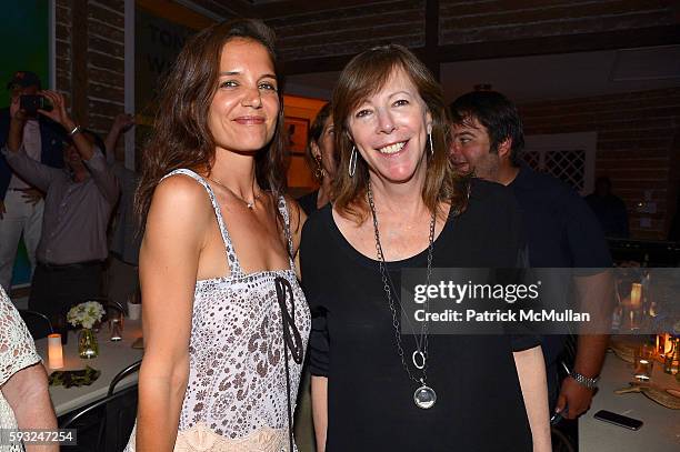
[[[40,362],[33,338],[0,287],[0,390],[22,369]],[[17,429],[17,419],[0,392],[0,429]],[[0,452],[22,452],[21,445],[0,444]]]

